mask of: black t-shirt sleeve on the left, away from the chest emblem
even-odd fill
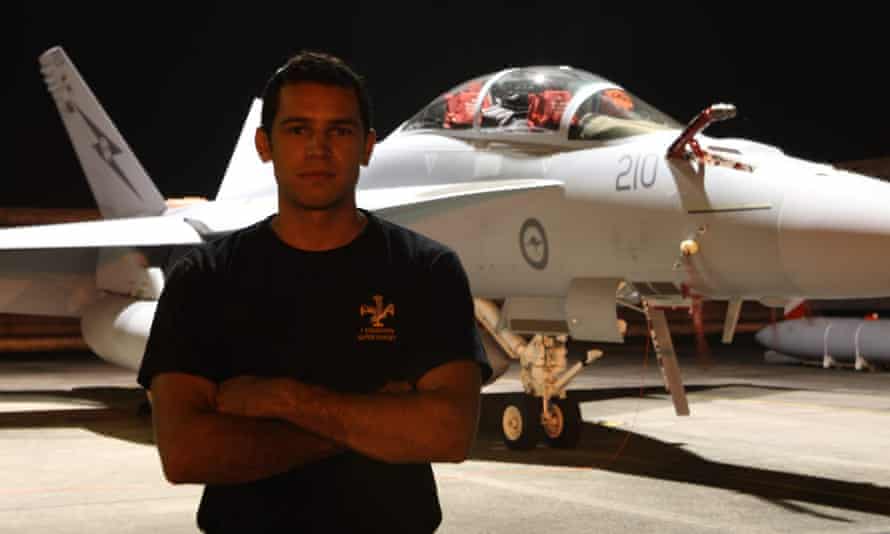
[[[146,389],[156,375],[165,372],[218,380],[210,365],[214,359],[206,326],[211,322],[206,310],[212,306],[205,290],[208,273],[197,258],[189,254],[180,259],[164,282],[137,377]]]

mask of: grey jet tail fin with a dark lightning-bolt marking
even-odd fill
[[[164,197],[65,51],[56,46],[44,52],[40,70],[102,216],[163,213]]]

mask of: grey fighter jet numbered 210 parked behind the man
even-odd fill
[[[0,312],[80,317],[99,356],[138,367],[164,272],[182,247],[276,209],[253,148],[254,103],[213,201],[168,207],[61,48],[40,58],[103,221],[0,231]],[[459,254],[489,357],[518,360],[507,446],[573,447],[569,338],[622,342],[644,314],[675,411],[689,413],[666,307],[890,295],[890,184],[687,126],[568,66],[510,68],[442,93],[380,142],[359,206]],[[434,305],[434,304],[431,304]]]

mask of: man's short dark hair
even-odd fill
[[[263,111],[260,126],[266,135],[272,135],[272,122],[278,113],[278,96],[286,84],[299,82],[316,82],[335,85],[355,91],[358,100],[359,115],[365,133],[370,132],[371,97],[361,76],[342,59],[324,52],[304,50],[291,57],[266,82],[263,89]]]

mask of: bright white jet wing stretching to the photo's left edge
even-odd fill
[[[201,243],[200,234],[175,216],[134,217],[0,230],[0,250],[149,247]]]

